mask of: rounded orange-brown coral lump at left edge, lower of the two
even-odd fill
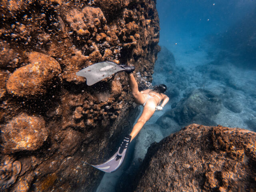
[[[3,152],[36,150],[48,137],[42,117],[20,114],[2,128]]]

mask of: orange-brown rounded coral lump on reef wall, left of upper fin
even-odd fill
[[[6,87],[10,94],[34,97],[46,93],[52,79],[60,74],[60,64],[45,54],[28,54],[30,64],[18,68],[8,78]]]

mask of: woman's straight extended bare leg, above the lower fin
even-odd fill
[[[147,102],[146,106],[144,107],[142,114],[140,118],[138,119],[138,122],[134,125],[132,132],[130,133],[130,136],[132,136],[132,139],[136,137],[136,135],[140,132],[144,124],[152,117],[156,110],[156,105],[154,102]]]

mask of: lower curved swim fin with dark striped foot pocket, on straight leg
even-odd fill
[[[89,164],[101,171],[112,173],[116,171],[122,164],[128,145],[130,144],[132,136],[126,135],[118,151],[106,162],[100,165]],[[87,163],[88,164],[88,163]]]

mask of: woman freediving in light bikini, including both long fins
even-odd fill
[[[132,128],[132,132],[125,136],[118,148],[118,151],[109,160],[99,165],[92,165],[85,162],[86,164],[89,164],[103,172],[111,173],[121,166],[130,142],[137,136],[144,124],[152,117],[154,112],[156,110],[161,111],[169,101],[169,97],[164,94],[167,89],[164,84],[154,86],[152,89],[139,91],[138,83],[133,76],[134,70],[134,66],[118,65],[114,62],[106,61],[93,64],[76,73],[77,76],[86,77],[87,85],[91,86],[110,75],[126,72],[128,74],[129,86],[132,96],[134,97],[134,102],[144,107],[140,118]]]

